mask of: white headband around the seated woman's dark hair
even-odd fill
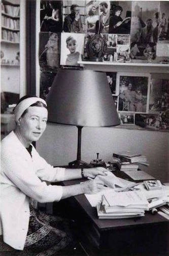
[[[21,117],[21,115],[23,114],[23,112],[30,107],[30,105],[36,103],[36,102],[42,102],[44,103],[46,106],[46,101],[38,98],[38,97],[31,97],[31,98],[27,98],[23,101],[21,101],[14,109],[14,113],[15,113],[15,121],[18,121],[19,118]]]

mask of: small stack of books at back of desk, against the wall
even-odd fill
[[[132,153],[130,151],[122,151],[119,153],[113,153],[113,157],[118,159],[122,164],[140,163],[140,164],[148,165],[147,157],[145,155]]]

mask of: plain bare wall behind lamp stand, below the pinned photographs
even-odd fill
[[[37,149],[48,163],[67,165],[77,157],[77,138],[76,126],[48,123],[43,137],[37,142]],[[142,170],[166,182],[169,181],[168,142],[167,132],[83,127],[81,158],[89,163],[99,152],[100,158],[108,162],[113,152],[131,150],[147,156],[150,166]]]

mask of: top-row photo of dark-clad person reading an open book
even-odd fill
[[[109,33],[130,34],[131,1],[111,1]]]

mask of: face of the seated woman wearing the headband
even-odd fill
[[[48,111],[44,107],[29,107],[27,113],[19,119],[20,136],[23,141],[30,144],[38,141],[46,129]]]

